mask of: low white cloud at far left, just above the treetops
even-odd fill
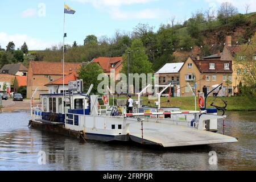
[[[27,43],[27,46],[30,50],[42,50],[53,45],[58,45],[59,43],[49,42],[46,40],[35,39],[27,36],[26,34],[14,34],[8,35],[5,32],[0,32],[0,45],[2,48],[13,41],[15,44],[15,48],[19,48],[23,45],[24,42]]]

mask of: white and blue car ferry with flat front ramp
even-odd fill
[[[40,105],[31,104],[29,126],[83,140],[133,141],[162,147],[238,142],[216,133],[218,119],[226,116],[217,115],[214,108],[154,108],[141,106],[138,100],[133,113],[126,113],[126,106],[101,106],[100,99],[88,93],[41,94]]]

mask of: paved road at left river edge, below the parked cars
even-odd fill
[[[39,100],[34,101],[34,106],[36,104],[39,104]],[[20,111],[20,110],[30,110],[30,100],[23,100],[23,101],[13,101],[11,99],[6,101],[3,100],[2,106],[3,106],[2,111],[5,113]]]

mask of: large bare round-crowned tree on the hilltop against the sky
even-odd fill
[[[225,23],[228,24],[228,18],[238,13],[237,7],[232,5],[230,2],[224,2],[218,9],[218,18],[224,19]]]

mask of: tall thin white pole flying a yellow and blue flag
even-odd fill
[[[63,23],[63,113],[65,114],[64,98],[65,98],[65,14],[75,14],[76,11],[64,3],[64,23]]]

